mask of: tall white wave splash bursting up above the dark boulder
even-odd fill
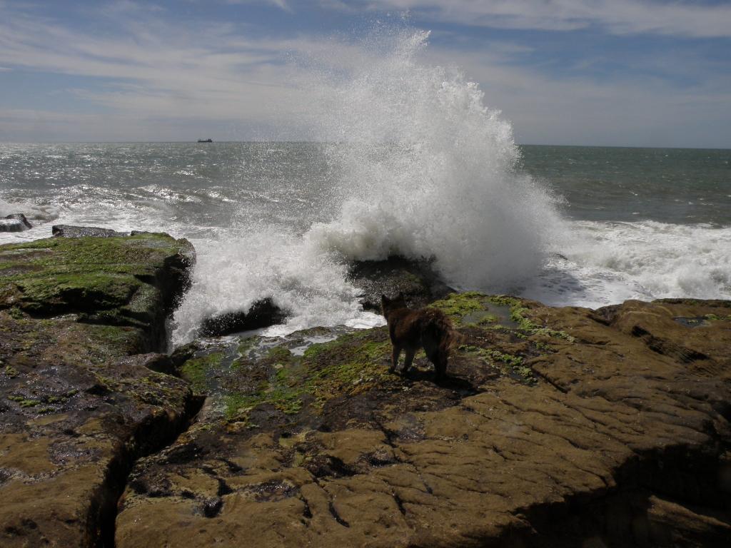
[[[518,170],[510,123],[476,83],[421,59],[428,33],[381,28],[370,56],[330,74],[323,135],[338,212],[306,235],[346,259],[434,257],[458,286],[534,275],[563,229],[555,200]]]

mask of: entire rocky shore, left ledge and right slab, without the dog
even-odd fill
[[[423,353],[388,373],[383,327],[167,354],[192,246],[61,233],[0,246],[3,547],[728,545],[731,302],[551,308],[353,265],[364,306],[450,315],[435,384]],[[281,321],[265,297],[211,325]]]

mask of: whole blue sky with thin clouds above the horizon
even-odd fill
[[[0,0],[0,141],[307,139],[383,25],[517,142],[731,148],[729,0]]]

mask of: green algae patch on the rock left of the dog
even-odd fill
[[[302,337],[290,336],[289,346],[301,348]],[[244,422],[257,406],[288,415],[303,406],[317,411],[332,397],[357,393],[387,375],[382,365],[390,356],[390,343],[383,330],[349,332],[330,342],[310,343],[296,354],[272,344],[271,339],[254,337],[204,347],[181,365],[181,374],[194,390],[220,399],[226,419]]]

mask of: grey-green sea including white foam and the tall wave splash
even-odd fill
[[[398,31],[343,69],[312,64],[309,142],[0,144],[0,216],[153,230],[197,250],[173,342],[271,297],[268,330],[370,327],[354,259],[429,256],[459,289],[551,305],[731,299],[731,151],[516,145],[458,70]]]

